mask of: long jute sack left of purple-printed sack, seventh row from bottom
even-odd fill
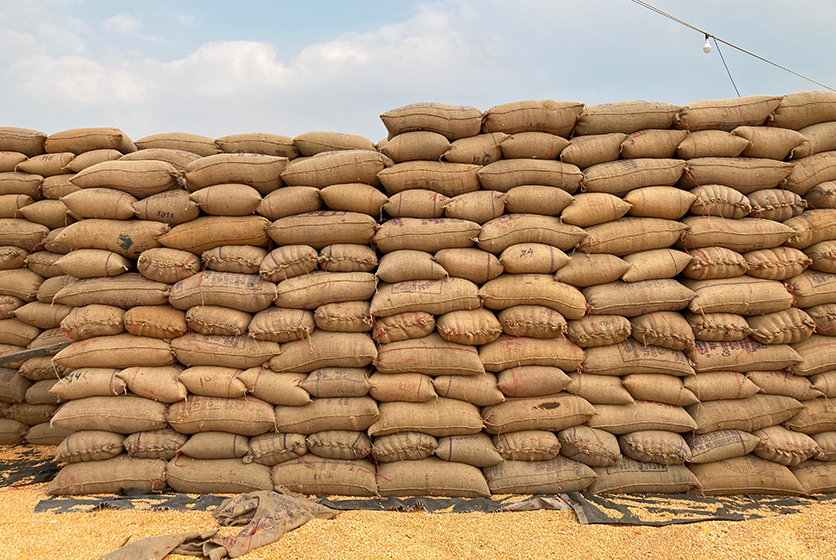
[[[64,287],[60,284],[55,287],[58,291],[52,298],[45,297],[46,301],[73,307],[99,304],[130,309],[140,305],[165,305],[170,292],[168,284],[148,280],[136,273],[120,274],[115,278],[74,279]]]

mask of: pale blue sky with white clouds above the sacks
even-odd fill
[[[650,3],[836,87],[832,0]],[[734,97],[703,42],[629,0],[0,0],[0,125],[376,141],[416,101]],[[742,95],[820,89],[723,54]]]

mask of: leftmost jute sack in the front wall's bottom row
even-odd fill
[[[166,487],[166,463],[120,456],[67,465],[50,482],[50,496],[108,494],[125,490],[155,492]]]

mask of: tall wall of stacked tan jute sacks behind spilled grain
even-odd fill
[[[836,491],[836,95],[0,129],[52,494]]]

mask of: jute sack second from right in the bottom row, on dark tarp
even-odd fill
[[[706,496],[732,494],[783,494],[796,496],[804,488],[783,465],[752,455],[696,464],[691,471]]]

